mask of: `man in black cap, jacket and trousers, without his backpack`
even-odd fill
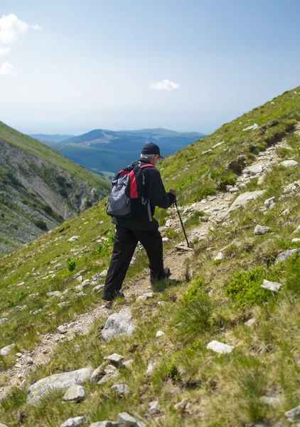
[[[135,169],[137,173],[142,171],[145,203],[141,205],[141,214],[138,216],[129,218],[128,216],[122,217],[112,214],[112,223],[116,225],[116,234],[102,300],[112,301],[115,297],[124,297],[123,292],[121,292],[122,283],[138,242],[144,246],[149,258],[151,283],[168,278],[171,275],[170,270],[164,268],[163,243],[161,233],[159,233],[159,223],[154,218],[154,211],[155,206],[164,209],[171,206],[176,201],[176,190],[170,190],[166,193],[161,181],[161,174],[155,167],[159,159],[164,159],[164,157],[161,156],[158,145],[151,142],[141,150],[139,161],[127,168],[130,170],[137,164],[138,167]],[[123,172],[129,174],[126,169],[119,174]],[[109,214],[109,209],[107,213]]]

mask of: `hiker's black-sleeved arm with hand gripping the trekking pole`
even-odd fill
[[[151,204],[153,206],[159,206],[159,208],[167,209],[176,200],[176,195],[173,193],[174,190],[172,190],[172,192],[166,192],[158,169],[149,168],[147,172],[147,180],[149,182],[148,196]]]

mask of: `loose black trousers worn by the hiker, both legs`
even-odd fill
[[[138,242],[146,249],[152,275],[164,275],[163,242],[159,230],[141,231],[116,226],[114,249],[109,264],[102,299],[110,300],[122,288],[125,275]]]

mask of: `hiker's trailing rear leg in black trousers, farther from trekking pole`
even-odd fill
[[[138,239],[132,230],[116,226],[112,260],[109,264],[102,300],[113,300],[114,294],[122,288],[137,242]]]

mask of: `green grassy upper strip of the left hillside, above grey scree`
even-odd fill
[[[96,188],[108,188],[107,181],[101,176],[87,171],[87,169],[84,169],[79,165],[71,162],[69,159],[56,152],[54,149],[48,147],[45,144],[42,144],[41,142],[38,142],[36,139],[21,134],[11,127],[4,125],[2,122],[0,122],[0,138],[4,139],[4,141],[8,142],[9,144],[22,149],[25,152],[42,157],[47,162],[55,164],[55,166],[61,167],[62,169],[66,169],[78,179],[87,181],[90,185],[95,186]]]

